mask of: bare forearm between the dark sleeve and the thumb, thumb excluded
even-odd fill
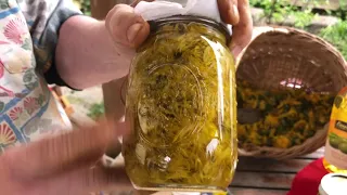
[[[85,89],[126,76],[132,54],[117,50],[104,22],[78,15],[61,27],[55,63],[68,86]]]

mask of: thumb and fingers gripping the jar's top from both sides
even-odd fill
[[[141,0],[131,5],[117,4],[106,16],[106,27],[123,52],[133,51],[149,36],[150,26],[133,11]],[[153,0],[146,0],[153,1]],[[253,22],[248,0],[218,0],[221,18],[233,26],[230,49],[236,56],[248,44],[252,38]],[[127,52],[129,53],[129,52]]]

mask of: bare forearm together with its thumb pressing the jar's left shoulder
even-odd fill
[[[56,70],[72,88],[83,89],[126,76],[150,26],[131,6],[118,4],[105,22],[77,15],[61,27]]]

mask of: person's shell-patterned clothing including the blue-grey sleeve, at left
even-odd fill
[[[76,14],[69,0],[0,0],[0,154],[70,128],[48,82],[64,84],[55,46],[61,25]]]

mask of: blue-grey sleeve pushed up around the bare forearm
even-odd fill
[[[46,77],[48,83],[67,86],[57,74],[54,62],[59,30],[69,17],[82,13],[72,0],[21,1],[20,6],[34,42],[37,70]]]

